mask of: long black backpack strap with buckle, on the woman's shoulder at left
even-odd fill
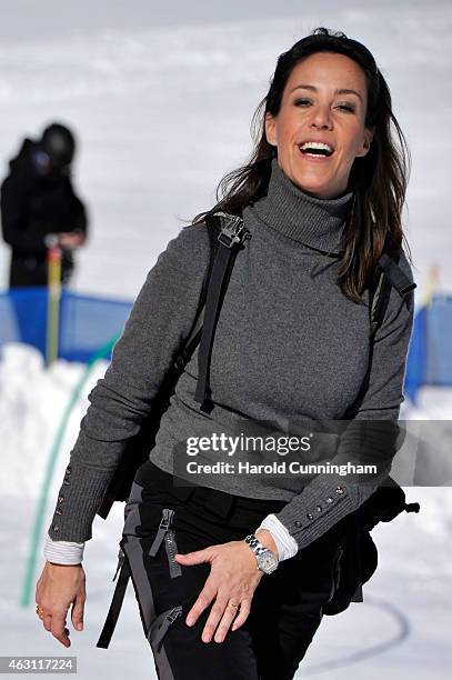
[[[235,257],[244,247],[244,242],[251,238],[242,218],[223,212],[218,212],[212,217],[220,221],[221,230],[217,239],[219,246],[215,244],[217,254],[208,281],[204,320],[198,356],[199,371],[194,400],[201,403],[200,409],[202,411],[211,410],[211,403],[209,403],[211,400],[210,360],[220,309]]]

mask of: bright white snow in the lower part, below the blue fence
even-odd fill
[[[63,440],[50,498],[44,532],[53,512],[69,451],[77,438],[87,396],[102,377],[100,362],[82,390]],[[23,587],[30,533],[44,479],[52,440],[84,367],[59,361],[47,371],[40,356],[20,344],[7,346],[0,362],[0,440],[8,461],[0,482],[1,544],[10,544],[8,564],[3,562],[0,580],[0,654],[66,653],[40,628],[32,608],[19,607]],[[452,416],[452,390],[442,390],[442,416]],[[423,390],[421,410],[404,408],[410,419],[431,414],[438,390]],[[438,410],[433,411],[438,418]],[[309,656],[303,677],[321,674],[345,680],[389,680],[446,678],[450,659],[449,627],[452,592],[450,540],[452,534],[452,492],[450,488],[406,489],[408,501],[420,501],[420,514],[400,516],[391,524],[379,527],[374,540],[380,551],[380,567],[365,588],[365,602],[352,604],[343,614],[325,618]],[[13,511],[12,511],[13,510]],[[118,630],[108,653],[96,642],[107,616],[112,594],[118,541],[122,529],[122,504],[104,522],[97,518],[94,540],[88,542],[84,567],[88,574],[86,630],[71,632],[79,676],[94,679],[99,673],[122,678],[128,672],[130,653],[134,654],[137,679],[151,678],[152,658],[142,637],[132,592],[121,612]],[[42,557],[39,567],[42,566]],[[4,614],[8,614],[7,617]],[[301,676],[300,676],[301,677]]]

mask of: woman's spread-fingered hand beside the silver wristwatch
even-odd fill
[[[210,562],[212,566],[204,588],[189,611],[185,622],[193,626],[204,609],[215,600],[201,639],[203,642],[210,642],[215,633],[214,641],[222,642],[232,621],[232,630],[237,630],[247,620],[254,590],[264,576],[263,571],[258,569],[253,552],[244,540],[230,541],[185,554],[178,553],[174,559],[183,567],[202,562]],[[231,603],[240,604],[240,609]]]

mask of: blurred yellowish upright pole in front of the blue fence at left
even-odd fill
[[[47,303],[47,366],[58,358],[60,300],[61,300],[61,249],[58,237],[48,239],[48,303]]]

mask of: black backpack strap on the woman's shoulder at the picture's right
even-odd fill
[[[395,288],[402,298],[405,298],[416,283],[411,282],[399,267],[400,251],[395,254],[383,252],[376,266],[376,286],[369,291],[371,338],[376,333],[386,313],[391,288]]]

